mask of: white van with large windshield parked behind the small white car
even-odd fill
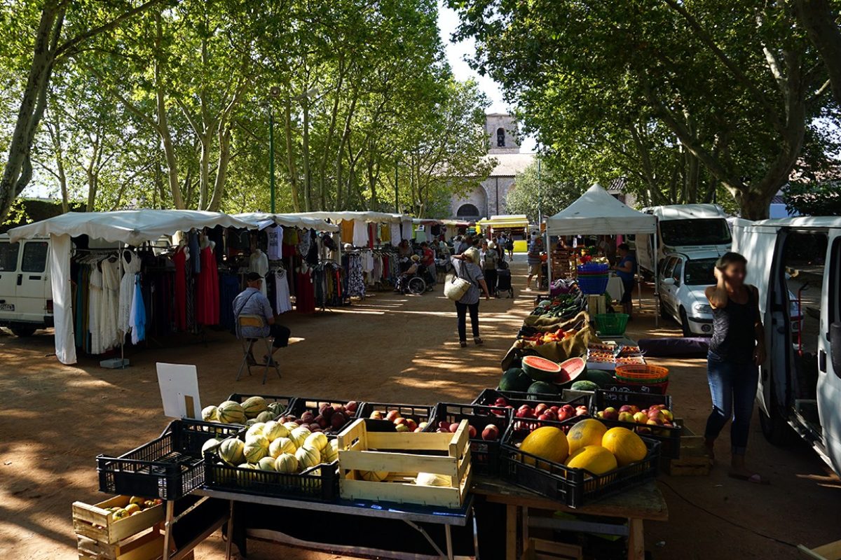
[[[718,254],[730,250],[732,238],[727,216],[715,204],[675,204],[643,208],[642,212],[657,217],[657,254],[650,233],[635,239],[637,264],[653,273],[654,263],[666,254]]]

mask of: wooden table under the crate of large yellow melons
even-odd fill
[[[506,506],[505,559],[518,560],[517,536],[521,542],[529,541],[529,527],[562,529],[567,531],[595,532],[602,535],[627,536],[628,560],[645,558],[643,521],[668,521],[669,510],[666,501],[653,482],[630,488],[621,494],[575,509],[568,508],[556,500],[550,500],[529,490],[508,484],[500,479],[485,476],[473,478],[473,493],[483,495],[485,500]],[[592,521],[565,521],[546,517],[532,518],[529,509],[551,510],[574,513],[576,516],[601,516],[627,520],[625,525],[613,525]],[[521,517],[521,531],[518,531],[518,516]]]

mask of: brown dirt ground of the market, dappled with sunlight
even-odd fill
[[[517,287],[525,265],[513,267]],[[440,288],[424,296],[378,293],[365,301],[315,316],[283,317],[293,343],[281,354],[283,379],[255,374],[235,382],[241,358],[235,338],[210,332],[207,346],[194,338],[166,348],[129,354],[125,370],[102,369],[98,360],[64,366],[49,333],[33,338],[0,335],[0,553],[25,559],[74,558],[70,506],[95,503],[95,457],[121,453],[156,437],[167,425],[155,363],[196,364],[203,405],[232,392],[335,397],[409,403],[469,402],[495,386],[499,361],[531,309],[532,294],[482,302],[484,347],[459,348],[452,303]],[[653,309],[631,323],[636,338],[678,336],[674,323],[653,325]],[[653,359],[671,370],[675,409],[694,432],[703,432],[710,397],[703,360]],[[727,428],[726,428],[727,431]],[[727,432],[717,448],[728,460]],[[653,558],[794,558],[794,545],[837,540],[841,486],[811,449],[772,447],[754,426],[748,462],[771,479],[759,486],[727,478],[721,464],[709,477],[662,476],[669,521],[646,524]],[[197,558],[220,558],[220,534]],[[251,558],[336,558],[274,545],[249,547]]]

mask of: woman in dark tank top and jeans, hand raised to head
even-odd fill
[[[722,255],[715,268],[717,284],[706,289],[706,299],[712,306],[712,338],[707,355],[712,412],[706,420],[704,437],[712,458],[713,442],[732,416],[730,476],[767,484],[744,464],[759,365],[765,361],[759,291],[744,283],[747,262],[738,253]]]

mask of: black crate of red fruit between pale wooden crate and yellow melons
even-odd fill
[[[475,428],[476,437],[470,438],[470,464],[476,474],[497,474],[500,470],[500,443],[511,421],[510,408],[483,405],[458,405],[439,402],[435,414],[424,432],[435,432],[441,421],[451,424],[467,420]],[[498,440],[482,439],[482,432],[489,424],[500,430]]]

